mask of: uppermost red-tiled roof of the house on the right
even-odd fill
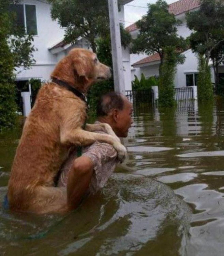
[[[179,0],[175,3],[169,4],[169,12],[174,15],[188,12],[190,10],[198,8],[200,5],[200,0]],[[126,27],[129,32],[137,29],[136,23]]]

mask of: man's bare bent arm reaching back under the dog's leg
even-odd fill
[[[88,191],[93,167],[92,160],[87,156],[80,156],[74,160],[67,183],[67,200],[70,210],[78,206]]]

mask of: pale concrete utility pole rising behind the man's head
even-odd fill
[[[117,0],[108,0],[115,91],[125,95],[120,23]]]

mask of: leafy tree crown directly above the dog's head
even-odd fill
[[[65,41],[86,39],[96,52],[95,39],[109,33],[108,3],[105,0],[49,0],[51,17],[65,27]]]

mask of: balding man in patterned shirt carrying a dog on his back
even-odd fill
[[[118,137],[124,138],[133,123],[132,112],[128,99],[110,92],[99,101],[96,123],[109,124]],[[85,195],[94,194],[105,185],[118,162],[116,150],[107,143],[95,142],[84,147],[78,158],[74,150],[62,167],[58,186],[67,187],[68,202],[69,198],[76,198],[72,203],[77,207]]]

